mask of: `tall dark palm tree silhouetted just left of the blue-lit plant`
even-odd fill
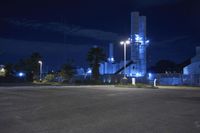
[[[90,63],[92,68],[92,78],[94,80],[99,79],[99,66],[101,61],[106,60],[106,55],[103,52],[102,48],[93,47],[89,50],[87,54],[87,61]]]

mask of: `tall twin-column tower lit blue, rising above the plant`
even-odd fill
[[[144,76],[146,74],[146,17],[140,16],[139,12],[131,13],[131,76]]]

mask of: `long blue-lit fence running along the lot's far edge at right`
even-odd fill
[[[102,75],[101,81],[103,83],[120,83],[123,75]],[[154,79],[157,79],[158,85],[190,85],[200,86],[200,75],[183,75],[180,73],[161,73],[146,75],[144,77],[137,77],[136,83],[153,84]],[[128,78],[131,83],[131,78]]]

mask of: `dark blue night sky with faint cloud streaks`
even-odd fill
[[[199,0],[5,0],[0,2],[0,64],[39,52],[49,69],[73,59],[86,67],[94,45],[123,58],[121,39],[130,35],[130,13],[147,16],[148,62],[176,63],[200,46]]]

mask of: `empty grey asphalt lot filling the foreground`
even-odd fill
[[[0,87],[0,133],[200,133],[200,90]]]

